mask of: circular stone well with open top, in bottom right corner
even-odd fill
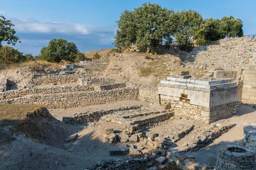
[[[217,170],[255,170],[255,152],[238,145],[221,147],[216,161]]]

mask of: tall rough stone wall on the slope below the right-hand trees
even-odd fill
[[[255,40],[237,37],[194,47],[189,53],[181,53],[180,58],[187,62],[194,62],[195,65],[219,66],[225,70],[237,70],[248,63],[255,52]]]

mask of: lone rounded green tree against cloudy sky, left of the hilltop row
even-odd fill
[[[50,40],[47,47],[41,49],[39,59],[48,62],[61,62],[62,60],[74,62],[78,53],[79,50],[74,42],[67,42],[62,38],[58,40],[54,38]]]

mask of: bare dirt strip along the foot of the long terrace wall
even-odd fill
[[[63,116],[72,116],[74,113],[84,113],[86,111],[101,111],[111,108],[116,108],[122,105],[149,105],[151,102],[135,101],[135,100],[123,100],[102,105],[89,105],[78,108],[67,108],[67,109],[50,109],[49,112],[56,119],[61,120]]]

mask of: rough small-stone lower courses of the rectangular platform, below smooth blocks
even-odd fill
[[[169,100],[168,102],[171,103],[171,110],[174,111],[175,116],[199,120],[206,124],[227,118],[227,116],[236,113],[236,102],[218,105],[211,108],[172,100]]]

